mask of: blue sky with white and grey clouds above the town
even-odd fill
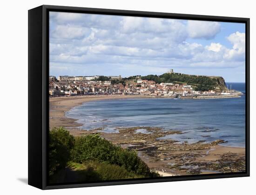
[[[175,72],[245,81],[245,25],[50,12],[50,75]]]

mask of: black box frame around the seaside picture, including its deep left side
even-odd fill
[[[170,19],[207,20],[244,23],[246,28],[246,171],[232,174],[206,174],[171,176],[154,179],[102,181],[94,183],[63,183],[49,185],[47,182],[47,141],[49,126],[49,11],[94,13],[122,16],[141,16]],[[34,82],[36,81],[36,82]],[[37,92],[33,91],[38,88]],[[172,182],[185,180],[216,179],[249,176],[249,18],[156,13],[84,7],[43,5],[28,11],[28,184],[39,189],[63,189],[90,186],[107,186],[135,183]]]

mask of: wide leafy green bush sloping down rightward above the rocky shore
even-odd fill
[[[127,171],[146,177],[159,176],[151,172],[148,165],[137,155],[135,150],[122,149],[101,138],[99,134],[76,137],[72,160],[76,163],[97,161],[116,164]]]

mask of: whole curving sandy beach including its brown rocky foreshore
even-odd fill
[[[99,132],[80,130],[81,124],[76,123],[75,119],[65,117],[65,112],[84,102],[121,98],[147,97],[109,95],[50,98],[50,129],[62,126],[74,136]],[[180,134],[181,131],[163,132],[160,128],[144,127],[151,134],[135,133],[139,128],[141,127],[119,129],[120,133],[101,132],[101,136],[123,148],[137,150],[149,168],[158,171],[162,176],[226,173],[245,169],[245,148],[221,146],[218,140],[212,143],[178,144],[175,140],[158,140],[157,137]]]

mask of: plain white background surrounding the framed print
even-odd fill
[[[0,194],[249,194],[256,185],[255,164],[255,35],[253,0],[34,0],[1,1],[0,11]],[[42,191],[27,185],[27,10],[45,5],[97,7],[250,18],[251,176],[186,182]],[[232,74],[232,72],[230,72]]]

